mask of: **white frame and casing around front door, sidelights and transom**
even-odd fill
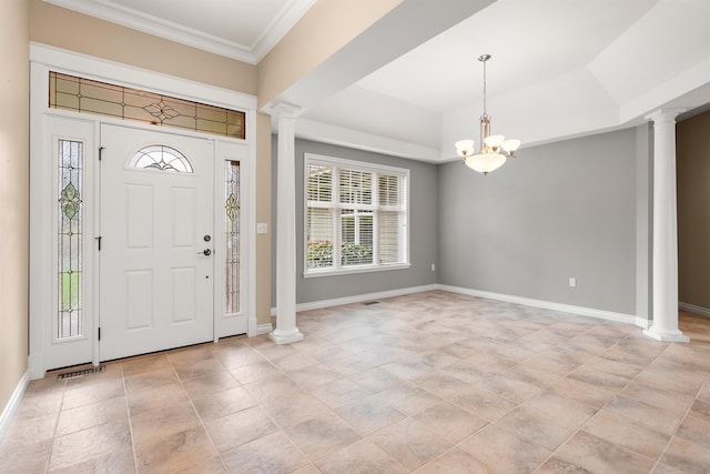
[[[211,105],[237,109],[245,112],[245,140],[221,138],[217,135],[205,135],[202,133],[184,132],[185,135],[194,135],[200,138],[209,137],[215,142],[215,150],[221,148],[233,148],[235,144],[240,148],[246,148],[245,157],[242,157],[243,178],[242,178],[242,203],[241,211],[243,213],[242,243],[244,246],[244,270],[242,274],[244,279],[244,291],[242,292],[241,307],[247,319],[247,335],[254,336],[257,333],[256,312],[255,312],[255,216],[256,203],[252,199],[256,189],[256,98],[253,95],[197,83],[185,79],[166,75],[135,67],[121,64],[85,54],[62,50],[45,44],[30,44],[30,354],[29,370],[31,379],[41,379],[44,376],[48,367],[54,365],[47,360],[47,347],[51,343],[51,317],[55,302],[52,300],[54,294],[53,282],[54,275],[51,271],[47,271],[47,259],[52,260],[55,251],[52,249],[52,239],[48,238],[55,233],[55,224],[51,218],[52,205],[55,204],[54,198],[51,195],[53,186],[48,189],[45,183],[51,183],[55,170],[48,165],[47,157],[52,153],[51,140],[48,140],[49,118],[64,117],[68,119],[80,120],[83,122],[93,122],[93,144],[99,142],[100,123],[113,123],[128,125],[129,122],[113,120],[102,115],[91,115],[87,113],[75,113],[49,109],[49,72],[57,71],[68,74],[84,77],[98,81],[125,85],[140,90],[148,90],[155,93],[182,98],[186,100],[196,100],[201,103]],[[160,84],[160,87],[155,87]],[[131,122],[130,127],[143,128],[140,123]],[[149,125],[150,127],[150,125]],[[156,130],[156,128],[148,128],[148,130]],[[176,130],[170,130],[174,133]],[[90,140],[90,141],[91,141]],[[222,147],[221,147],[222,144]],[[95,155],[95,150],[88,153],[88,157]],[[223,160],[219,152],[215,153],[215,191],[223,189],[223,183],[219,182],[220,177],[223,180]],[[95,164],[95,163],[92,163]],[[98,229],[98,209],[99,209],[99,191],[92,186],[98,181],[98,168],[89,167],[85,170],[84,181],[91,181],[87,189],[90,194],[85,198],[92,201],[94,212],[84,216],[84,239],[85,241],[94,241]],[[217,171],[220,170],[220,171]],[[222,188],[219,188],[222,186]],[[221,193],[215,192],[215,198]],[[247,199],[244,199],[247,196]],[[223,202],[215,199],[215,218],[219,209],[223,208]],[[215,221],[219,225],[220,221]],[[221,233],[215,228],[215,234]],[[215,245],[219,242],[215,242]],[[92,252],[93,253],[93,252]],[[94,254],[95,255],[95,254]],[[92,255],[93,256],[93,255]],[[84,307],[84,317],[91,319],[91,330],[94,334],[87,334],[93,343],[90,357],[93,364],[99,363],[99,341],[95,334],[99,321],[99,284],[98,284],[98,261],[99,259],[89,259],[85,262],[84,271],[91,272],[87,275],[88,285],[84,293],[89,295],[87,306]],[[90,263],[91,262],[91,263]],[[215,269],[215,314],[214,314],[214,340],[220,336],[219,329],[224,327],[222,321],[224,307],[224,295],[220,294],[220,280],[216,276],[221,272]],[[223,281],[223,279],[222,279]]]

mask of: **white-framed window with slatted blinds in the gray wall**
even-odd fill
[[[305,155],[305,276],[409,266],[400,168]]]

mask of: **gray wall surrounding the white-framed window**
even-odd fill
[[[276,191],[276,137],[272,138],[273,145],[273,182]],[[432,271],[432,264],[437,255],[437,165],[418,161],[405,160],[379,153],[354,150],[344,147],[307,140],[296,140],[296,303],[311,303],[323,300],[346,297],[367,293],[407,289],[436,283],[437,272]],[[304,222],[303,222],[303,159],[305,153],[323,154],[369,163],[379,163],[410,170],[409,178],[409,261],[412,268],[386,272],[358,273],[352,275],[303,278]],[[272,236],[275,240],[276,229],[276,198],[272,199]],[[272,245],[275,252],[276,244]],[[273,274],[276,274],[276,258],[274,255]],[[276,306],[276,279],[272,279],[272,306]]]

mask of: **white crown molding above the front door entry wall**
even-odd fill
[[[142,13],[111,0],[42,1],[203,51],[257,64],[316,0],[292,0],[268,23],[252,46],[240,44],[152,14]]]

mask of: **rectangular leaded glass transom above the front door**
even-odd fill
[[[51,71],[49,107],[221,137],[246,137],[244,112]]]

